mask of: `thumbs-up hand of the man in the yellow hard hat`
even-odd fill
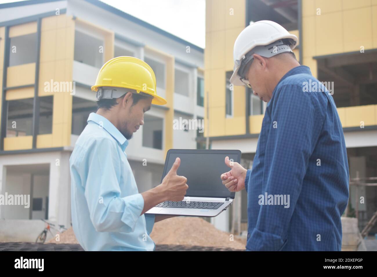
[[[187,178],[177,175],[177,170],[181,164],[181,159],[176,158],[172,168],[162,180],[161,187],[164,191],[164,198],[169,201],[182,201],[189,186],[186,184]]]

